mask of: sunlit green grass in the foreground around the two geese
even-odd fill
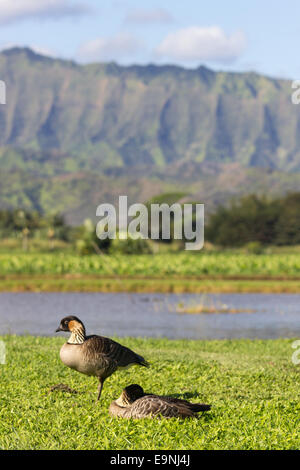
[[[97,381],[59,360],[63,338],[2,338],[2,449],[297,449],[299,366],[292,340],[168,341],[122,339],[151,361],[110,377],[100,403]],[[79,393],[49,393],[65,383]],[[200,419],[140,421],[111,418],[121,389],[178,394],[212,404]]]

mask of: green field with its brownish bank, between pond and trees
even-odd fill
[[[0,253],[2,291],[300,292],[300,252]]]

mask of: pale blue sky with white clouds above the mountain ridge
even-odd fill
[[[296,0],[0,0],[0,47],[300,78]]]

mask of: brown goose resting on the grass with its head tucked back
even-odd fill
[[[210,408],[210,405],[201,403],[146,394],[142,387],[133,384],[124,388],[121,396],[110,404],[109,413],[122,418],[190,418],[197,416],[199,411],[208,411]]]

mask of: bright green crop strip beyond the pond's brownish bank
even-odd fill
[[[79,256],[0,254],[0,275],[97,274],[102,276],[300,276],[300,253],[167,253],[157,255]]]

